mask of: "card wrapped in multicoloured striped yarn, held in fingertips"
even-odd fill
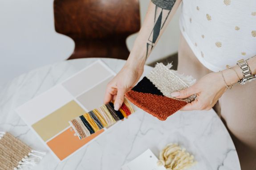
[[[114,110],[113,103],[108,103],[69,121],[69,124],[77,136],[82,139],[104,127],[110,127],[117,121],[127,118],[132,113],[134,113],[134,109],[125,99],[119,111]]]

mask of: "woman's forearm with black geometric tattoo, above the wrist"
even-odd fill
[[[146,62],[147,57],[163,34],[181,0],[153,0],[150,1],[142,28],[134,42],[127,64],[140,68]],[[161,4],[162,3],[162,4]],[[167,6],[166,4],[168,3]],[[155,5],[156,4],[156,5]]]

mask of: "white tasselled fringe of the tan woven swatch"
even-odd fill
[[[32,166],[36,166],[43,159],[45,154],[45,152],[31,150],[27,156],[21,159],[21,161],[13,170],[24,170]]]

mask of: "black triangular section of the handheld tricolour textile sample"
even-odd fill
[[[158,90],[157,87],[154,86],[152,82],[146,77],[143,77],[143,79],[138,82],[136,86],[132,88],[133,91],[142,92],[142,93],[150,93],[153,95],[162,95],[163,93]]]

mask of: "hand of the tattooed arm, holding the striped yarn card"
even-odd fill
[[[124,101],[125,93],[135,86],[143,69],[143,66],[138,68],[126,62],[122,70],[108,83],[104,103],[114,101],[114,109],[118,111]]]

